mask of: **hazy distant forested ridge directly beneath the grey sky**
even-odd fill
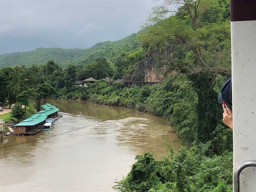
[[[89,49],[39,48],[28,52],[15,52],[0,55],[0,67],[42,64],[49,60],[61,66],[68,64],[87,64],[95,57],[102,56],[115,59],[138,47],[136,34],[131,34],[118,41],[105,41],[95,44]]]

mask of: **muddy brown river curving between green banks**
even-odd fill
[[[0,147],[91,126],[0,148],[0,191],[113,192],[114,182],[127,175],[137,154],[153,152],[161,158],[168,152],[162,140],[175,151],[180,146],[161,117],[131,108],[74,100],[47,102],[63,114],[50,131],[33,136],[5,136]]]

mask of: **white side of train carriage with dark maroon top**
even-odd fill
[[[255,10],[256,1],[250,3],[240,9],[241,3],[231,0],[233,171],[244,161],[256,160],[256,12],[251,19],[243,15],[243,10]],[[240,186],[241,192],[256,191],[255,168],[244,169]]]

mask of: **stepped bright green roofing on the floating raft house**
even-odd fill
[[[39,124],[48,118],[48,115],[59,111],[60,109],[56,108],[55,106],[46,103],[41,105],[45,110],[41,110],[36,114],[31,115],[28,119],[24,119],[20,123],[16,124],[15,126],[33,126]]]

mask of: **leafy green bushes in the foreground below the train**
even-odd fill
[[[199,147],[181,147],[162,160],[145,153],[114,189],[121,192],[232,192],[233,153],[207,157]],[[221,163],[220,163],[221,162]]]

